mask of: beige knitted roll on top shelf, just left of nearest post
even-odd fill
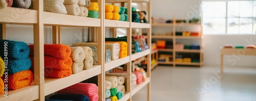
[[[13,0],[12,7],[28,9],[31,5],[31,0]]]

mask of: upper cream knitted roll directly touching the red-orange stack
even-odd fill
[[[84,57],[86,57],[82,47],[70,47],[70,49],[70,57],[73,61],[82,62],[84,60]]]

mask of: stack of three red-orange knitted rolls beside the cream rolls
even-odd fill
[[[29,45],[29,57],[34,60],[34,45]],[[70,57],[71,49],[68,45],[45,44],[45,77],[46,78],[63,78],[72,74],[72,59]],[[33,65],[32,65],[32,68]]]

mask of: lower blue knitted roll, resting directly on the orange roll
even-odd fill
[[[29,57],[24,59],[8,58],[9,74],[15,74],[20,71],[29,70],[31,67],[31,60]]]

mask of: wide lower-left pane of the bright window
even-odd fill
[[[204,18],[204,33],[222,34],[225,33],[225,18]]]

